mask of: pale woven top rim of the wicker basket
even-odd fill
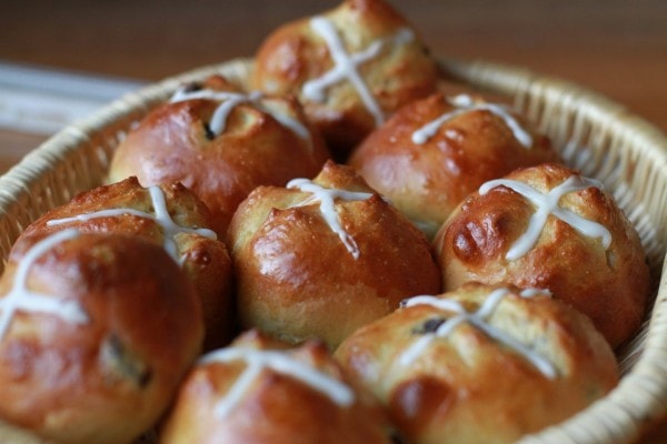
[[[646,154],[651,155],[651,160],[661,165],[664,174],[667,175],[667,137],[645,119],[628,112],[621,104],[595,91],[525,68],[486,60],[440,58],[439,63],[444,74],[456,78],[484,78],[485,72],[492,72],[495,75],[505,77],[506,80],[510,79],[528,85],[526,88],[541,88],[547,92],[567,91],[573,98],[593,107],[596,112],[618,120],[627,129],[631,129],[637,138],[636,143],[646,145]],[[0,218],[8,213],[8,205],[16,204],[14,198],[29,192],[31,183],[48,172],[63,153],[77,150],[104,125],[132,113],[137,115],[146,113],[152,104],[163,100],[183,82],[202,79],[227,69],[247,70],[251,64],[252,59],[239,58],[169,77],[127,93],[93,114],[59,131],[0,176]],[[564,423],[527,436],[522,442],[573,442],[566,438],[567,431],[570,427],[584,426],[605,428],[601,434],[591,434],[590,441],[586,442],[633,442],[643,431],[667,415],[667,260],[665,258],[661,264],[660,283],[650,315],[645,349],[631,371],[609,395]],[[636,393],[644,393],[644,398],[648,401],[640,403],[628,401],[631,398],[629,395]],[[600,438],[603,435],[609,440]]]

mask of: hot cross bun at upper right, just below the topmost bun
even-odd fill
[[[432,239],[484,182],[557,160],[549,140],[511,109],[437,93],[397,111],[348,164]]]

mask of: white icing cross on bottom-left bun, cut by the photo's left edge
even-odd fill
[[[79,235],[77,230],[63,230],[37,242],[19,262],[13,285],[9,293],[0,299],[0,340],[4,337],[17,311],[48,313],[72,324],[84,324],[88,315],[77,301],[63,301],[48,294],[28,290],[28,273],[34,262],[57,244]]]

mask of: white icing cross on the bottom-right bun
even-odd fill
[[[476,312],[467,312],[466,309],[454,300],[439,299],[436,296],[415,296],[410,297],[404,303],[401,307],[415,306],[415,305],[430,305],[438,310],[455,312],[456,315],[442,322],[434,333],[425,333],[421,337],[415,341],[400,356],[400,364],[407,366],[410,365],[429,345],[436,337],[446,337],[449,335],[458,325],[468,323],[481,332],[490,336],[492,340],[500,344],[512,349],[515,352],[524,356],[529,361],[536,369],[538,369],[548,379],[555,379],[558,375],[556,366],[545,356],[532,351],[529,346],[517,341],[511,335],[501,331],[494,325],[490,325],[487,320],[494,313],[500,301],[509,293],[507,289],[494,290],[485,300],[484,304]],[[534,290],[522,291],[521,297],[532,297],[536,294],[549,294],[545,292],[537,292]]]

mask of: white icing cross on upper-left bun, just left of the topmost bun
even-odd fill
[[[310,131],[297,119],[292,119],[287,114],[277,112],[263,105],[261,102],[262,93],[259,91],[252,91],[249,94],[241,94],[238,92],[227,91],[211,91],[211,90],[197,90],[187,91],[185,88],[177,91],[171,98],[170,102],[182,102],[186,100],[193,99],[206,99],[220,102],[210,121],[210,130],[215,135],[220,135],[225,132],[227,127],[227,118],[229,113],[241,103],[250,103],[258,110],[261,110],[270,114],[281,125],[291,130],[295,134],[303,140],[310,140]]]

